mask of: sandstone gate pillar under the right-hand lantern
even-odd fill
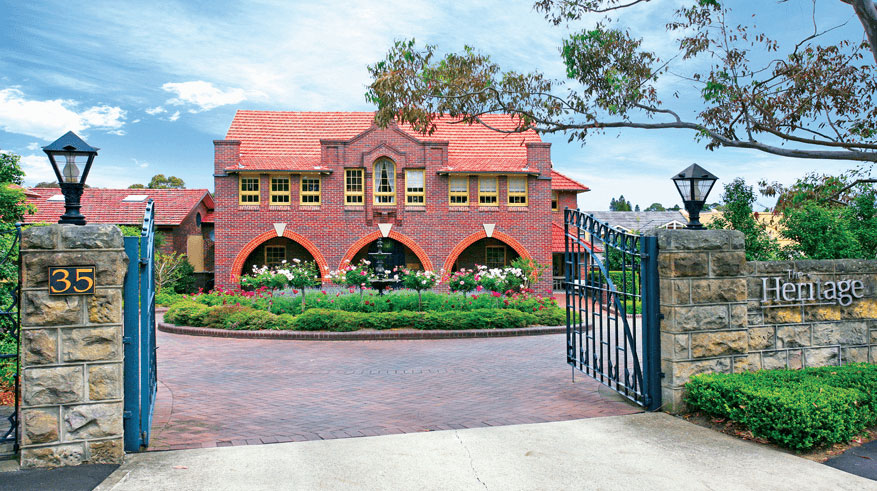
[[[741,232],[658,232],[664,410],[684,410],[683,386],[693,375],[731,372],[745,361],[745,269]]]

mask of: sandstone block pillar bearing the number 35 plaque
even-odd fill
[[[122,284],[114,225],[22,233],[21,465],[118,463],[122,444]],[[48,267],[94,265],[94,295],[49,295]]]

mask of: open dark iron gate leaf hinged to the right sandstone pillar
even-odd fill
[[[661,406],[657,237],[564,211],[566,359],[649,410]]]

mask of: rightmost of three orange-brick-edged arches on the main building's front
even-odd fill
[[[518,257],[531,259],[530,253],[520,242],[502,232],[494,232],[488,237],[482,231],[460,241],[445,260],[444,268],[452,272],[461,268],[471,269],[475,265],[503,267]]]

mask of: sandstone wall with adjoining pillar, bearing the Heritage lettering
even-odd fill
[[[699,373],[877,362],[877,261],[746,262],[731,230],[660,231],[658,249],[665,410],[685,409],[683,387]],[[762,302],[762,278],[789,271],[783,281],[860,280],[863,298]]]

